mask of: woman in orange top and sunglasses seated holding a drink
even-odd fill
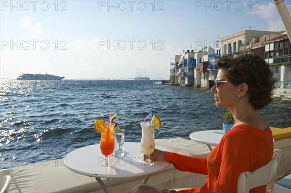
[[[152,160],[167,161],[180,171],[208,175],[201,188],[179,193],[236,193],[238,177],[243,171],[254,171],[268,163],[273,155],[272,132],[257,112],[271,103],[275,84],[268,63],[258,56],[242,54],[233,59],[222,57],[211,92],[215,105],[228,108],[235,119],[234,127],[207,157],[195,158],[155,149]],[[176,193],[141,184],[133,193]],[[266,192],[266,186],[250,193]]]

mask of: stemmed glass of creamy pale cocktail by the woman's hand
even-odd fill
[[[140,124],[142,127],[141,149],[146,156],[149,156],[155,150],[154,125],[145,124],[144,122]],[[148,158],[142,163],[146,165],[154,164],[154,162],[151,162]]]

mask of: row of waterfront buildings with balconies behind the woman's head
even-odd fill
[[[221,39],[221,47],[183,51],[171,60],[173,82],[181,86],[211,88],[217,77],[217,62],[223,55],[233,58],[240,54],[251,54],[265,59],[270,64],[277,88],[291,89],[291,43],[283,31],[243,30]]]

